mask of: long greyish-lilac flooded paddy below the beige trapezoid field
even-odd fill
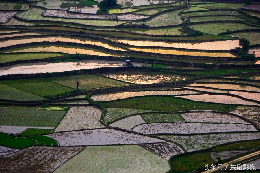
[[[146,144],[165,142],[148,136],[113,129],[70,131],[46,135],[57,140],[60,146]]]

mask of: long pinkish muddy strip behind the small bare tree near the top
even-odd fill
[[[94,14],[74,14],[64,10],[46,10],[42,16],[46,17],[64,17],[64,18],[80,18],[80,19],[106,19],[114,20],[111,15],[94,15]],[[118,14],[118,20],[139,20],[147,18],[142,14]]]

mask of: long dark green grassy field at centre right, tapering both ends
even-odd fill
[[[200,103],[173,96],[138,97],[102,104],[105,107],[136,108],[154,111],[217,110],[229,112],[237,107],[229,104]]]

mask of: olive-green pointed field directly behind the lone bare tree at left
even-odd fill
[[[102,88],[102,87],[122,87],[129,86],[131,84],[120,82],[117,80],[105,78],[103,76],[97,76],[93,74],[84,74],[84,75],[73,75],[65,76],[59,78],[48,78],[53,82],[77,89],[76,79],[79,79],[80,85],[79,89],[93,89],[93,88]]]

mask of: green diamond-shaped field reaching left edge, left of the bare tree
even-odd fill
[[[0,83],[12,86],[23,91],[27,91],[39,96],[58,95],[72,91],[72,88],[63,86],[46,79],[18,79],[18,80],[2,80]]]

